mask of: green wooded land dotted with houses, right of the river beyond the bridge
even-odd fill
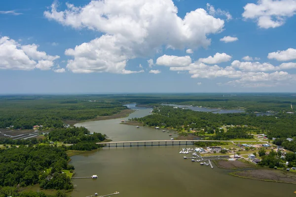
[[[215,114],[189,109],[176,109],[172,106],[160,106],[153,110],[153,114],[133,120],[143,122],[144,125],[148,126],[164,126],[178,131],[194,129],[215,133],[210,137],[215,140],[252,138],[250,134],[254,131],[267,134],[269,139],[273,137],[286,139],[287,137],[296,136],[296,115],[284,112],[278,112],[276,115],[270,116],[257,116],[252,113]],[[226,128],[227,132],[220,129],[222,127]],[[286,142],[286,144],[290,143]]]

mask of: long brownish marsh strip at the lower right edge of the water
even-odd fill
[[[247,179],[296,184],[296,173],[279,169],[261,168],[236,171],[229,174]]]

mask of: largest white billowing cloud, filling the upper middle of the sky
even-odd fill
[[[173,49],[207,47],[210,33],[222,31],[224,21],[196,9],[180,18],[172,0],[92,0],[76,7],[66,3],[58,11],[57,2],[44,12],[49,20],[105,33],[75,49],[67,68],[73,72],[124,73],[126,62],[152,55],[164,46]]]

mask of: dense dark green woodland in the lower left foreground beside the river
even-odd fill
[[[11,147],[0,150],[0,186],[26,187],[39,183],[41,188],[72,190],[70,177],[63,169],[73,170],[64,147],[48,145]]]

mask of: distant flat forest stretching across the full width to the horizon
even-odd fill
[[[162,103],[188,104],[246,112],[295,111],[296,97],[282,94],[114,94],[114,95],[14,95],[0,96],[0,128],[62,128],[66,120],[90,120],[127,109],[123,104],[159,106]]]

